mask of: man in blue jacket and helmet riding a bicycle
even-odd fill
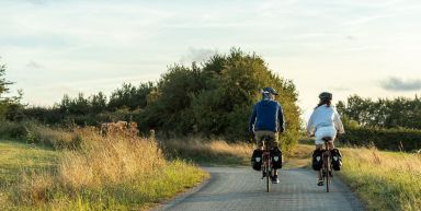
[[[249,132],[254,134],[257,150],[262,150],[263,137],[270,137],[269,148],[271,151],[278,151],[278,132],[284,132],[284,114],[282,106],[275,101],[277,92],[273,87],[262,90],[262,101],[258,102],[251,114]],[[281,151],[278,151],[281,153]],[[281,157],[280,157],[281,159]],[[281,162],[281,161],[280,161]],[[270,175],[272,183],[278,184],[277,171],[274,166],[273,175]]]

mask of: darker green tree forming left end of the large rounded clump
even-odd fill
[[[144,125],[148,128],[159,127],[160,130],[187,134],[193,132],[194,117],[191,103],[194,95],[204,89],[201,80],[201,70],[193,63],[192,67],[174,65],[162,75],[156,91],[147,98]]]

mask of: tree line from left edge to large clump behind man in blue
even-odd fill
[[[157,82],[130,83],[112,92],[77,97],[65,95],[50,107],[24,107],[9,120],[36,119],[44,124],[99,125],[134,120],[140,131],[156,129],[167,136],[203,136],[246,140],[248,120],[260,90],[280,92],[287,132],[284,148],[297,142],[300,129],[298,94],[294,83],[275,74],[255,54],[231,49],[191,66],[174,63]]]

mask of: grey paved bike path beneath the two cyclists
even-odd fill
[[[281,183],[265,192],[261,173],[249,167],[205,167],[210,179],[193,192],[180,196],[157,211],[284,210],[356,211],[364,210],[353,192],[333,178],[331,191],[316,185],[310,169],[282,169]]]

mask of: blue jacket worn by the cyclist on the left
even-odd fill
[[[283,132],[285,130],[282,106],[276,101],[262,99],[253,107],[249,122],[249,131],[270,130]]]

